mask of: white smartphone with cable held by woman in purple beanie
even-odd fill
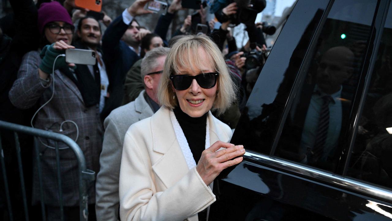
[[[97,60],[93,50],[69,48],[65,50],[65,61],[74,64],[95,65]]]

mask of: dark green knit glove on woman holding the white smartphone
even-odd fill
[[[58,55],[64,54],[65,51],[64,50],[57,50],[55,48],[53,48],[53,44],[51,45],[46,45],[41,53],[40,53],[40,57],[42,58],[41,64],[40,64],[40,69],[47,73],[47,74],[52,74],[53,72],[53,63],[54,60],[56,59],[56,57]],[[54,64],[54,70],[57,69],[63,69],[63,68],[67,68],[68,64],[65,62],[65,57],[58,57],[56,60],[56,64]],[[76,68],[75,67],[71,67],[73,69]]]

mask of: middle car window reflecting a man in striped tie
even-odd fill
[[[335,172],[377,0],[335,0],[299,79],[275,156]],[[284,89],[283,89],[284,90]]]

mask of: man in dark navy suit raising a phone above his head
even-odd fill
[[[139,24],[135,17],[151,13],[144,9],[149,0],[136,0],[125,9],[119,17],[107,27],[102,38],[103,61],[109,77],[110,99],[107,101],[101,115],[107,115],[111,110],[122,104],[124,96],[123,84],[125,74],[139,57]]]

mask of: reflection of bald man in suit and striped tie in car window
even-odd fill
[[[282,157],[331,169],[352,99],[343,83],[352,75],[353,62],[354,53],[344,46],[323,54],[293,101],[282,131],[288,138],[282,142]]]

